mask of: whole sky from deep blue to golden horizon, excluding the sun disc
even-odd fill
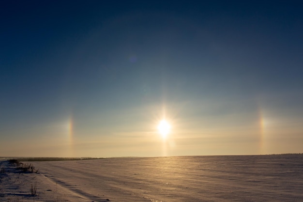
[[[303,153],[302,9],[1,1],[0,156]]]

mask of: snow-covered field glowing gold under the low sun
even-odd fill
[[[303,155],[30,163],[40,174],[0,161],[1,202],[303,202]]]

